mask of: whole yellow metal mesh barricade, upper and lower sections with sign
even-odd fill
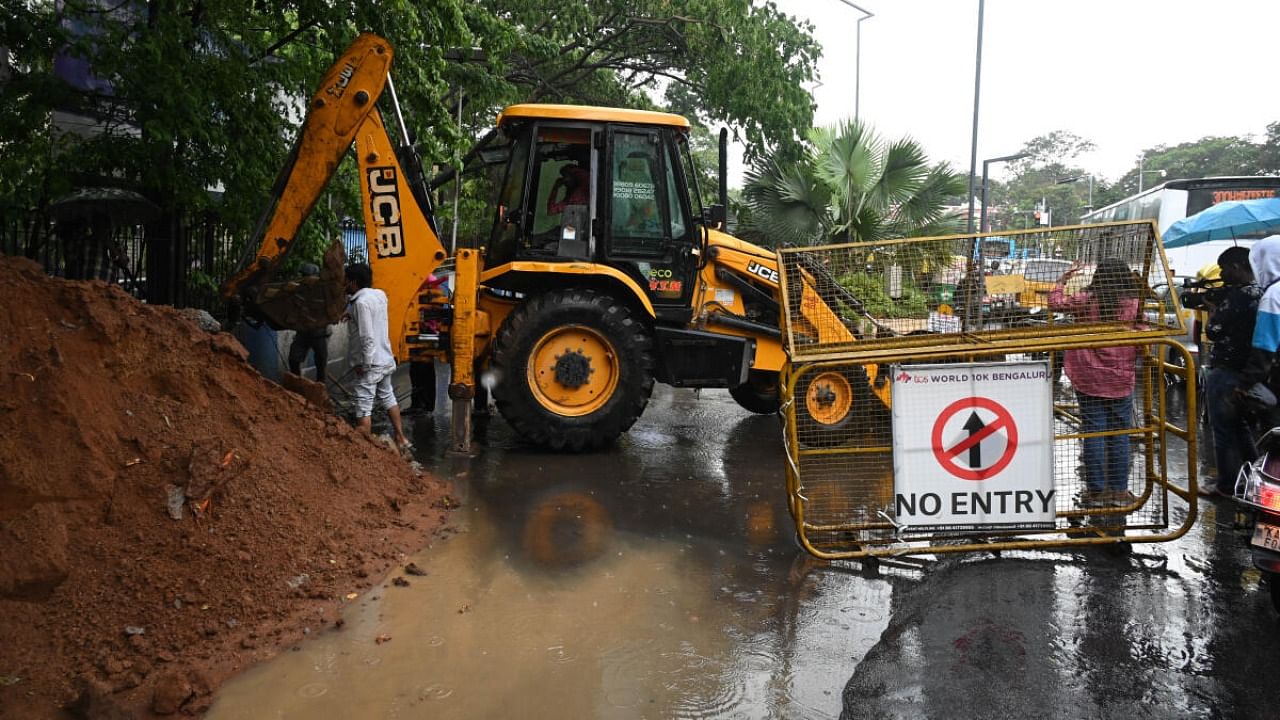
[[[998,261],[980,251],[989,237],[780,251],[787,489],[812,553],[1157,542],[1194,521],[1196,372],[1169,340],[1183,329],[1176,297],[1160,292],[1170,278],[1155,227],[1002,233],[1018,251]],[[1050,307],[1060,281],[1064,295],[1083,292],[1116,260],[1133,274],[1139,319]],[[1125,427],[1085,432],[1060,372],[1070,351],[1135,357]],[[1085,447],[1128,455],[1123,491],[1089,489],[1100,483],[1085,477]],[[1170,482],[1171,454],[1185,454],[1185,484]]]

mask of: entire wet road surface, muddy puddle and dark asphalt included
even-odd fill
[[[444,410],[412,436],[458,532],[209,717],[1277,715],[1277,615],[1226,503],[1129,551],[864,568],[796,546],[781,421],[723,391],[659,386],[593,455],[495,418],[451,457]]]

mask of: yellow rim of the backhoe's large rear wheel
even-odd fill
[[[529,356],[529,388],[552,413],[579,418],[595,413],[618,386],[618,354],[599,332],[563,325],[544,334]]]

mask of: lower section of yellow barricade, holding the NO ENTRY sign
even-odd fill
[[[1135,392],[1110,427],[1085,419],[1070,380],[1052,382],[1052,352],[904,355],[883,373],[892,407],[868,396],[838,428],[806,418],[805,388],[865,378],[865,365],[791,365],[787,489],[801,544],[858,559],[1180,537],[1197,511],[1194,372],[1161,360],[1185,352],[1171,341],[1110,345],[1121,346],[1137,348]],[[1167,401],[1172,375],[1188,388],[1187,418]]]

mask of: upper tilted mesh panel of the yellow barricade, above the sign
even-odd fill
[[[1091,333],[1098,323],[1139,329],[1053,311],[1051,293],[1064,275],[1064,296],[1096,288],[1098,281],[1138,299],[1142,331],[1165,336],[1181,329],[1149,222],[796,247],[780,250],[778,259],[792,360],[854,343],[867,352],[1043,336],[1046,328]],[[1132,278],[1119,282],[1116,264]]]

